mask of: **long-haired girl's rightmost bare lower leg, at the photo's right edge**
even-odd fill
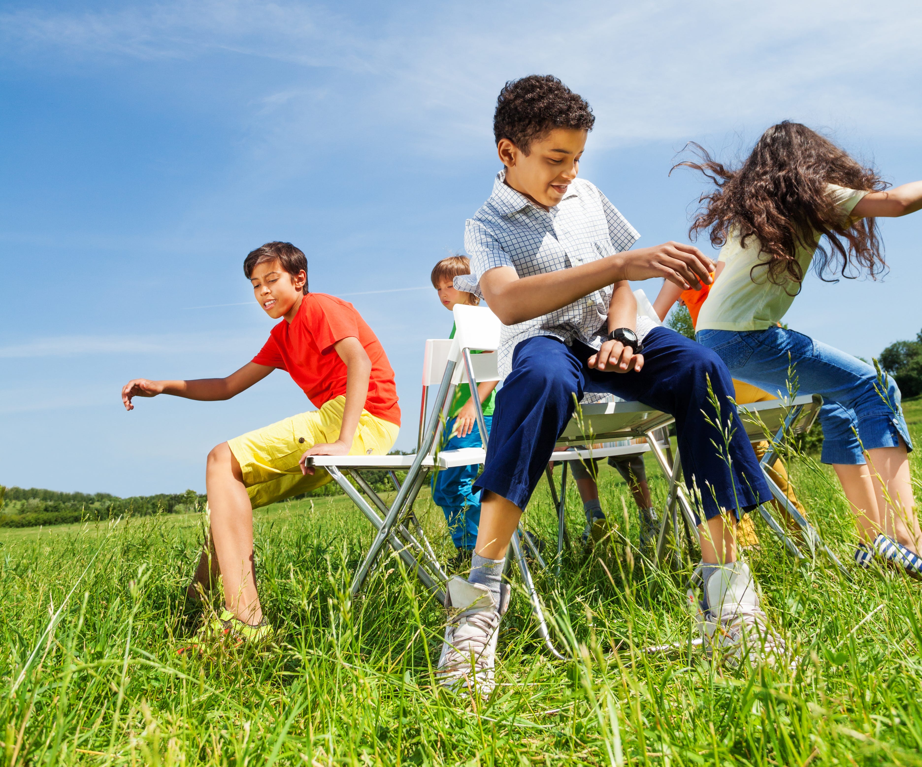
[[[922,545],[922,533],[916,517],[906,446],[868,450],[866,456],[884,533],[917,553]]]

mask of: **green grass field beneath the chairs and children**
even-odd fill
[[[922,402],[906,403],[914,438]],[[654,476],[652,467],[650,475]],[[798,495],[843,560],[855,533],[832,474],[792,467]],[[916,477],[922,461],[914,461]],[[636,513],[604,470],[603,506],[636,541]],[[665,484],[653,483],[661,504]],[[571,491],[573,493],[573,491]],[[571,531],[581,506],[570,498]],[[439,509],[417,505],[449,553]],[[199,615],[184,604],[201,517],[0,533],[0,754],[12,764],[922,764],[922,584],[895,572],[845,581],[800,566],[762,526],[749,554],[795,671],[729,670],[687,648],[688,571],[609,571],[573,551],[538,576],[558,640],[542,652],[514,596],[489,704],[432,686],[443,612],[385,562],[346,590],[370,527],[344,497],[257,512],[260,592],[278,629],[265,651],[177,653]],[[527,526],[555,533],[542,488]]]

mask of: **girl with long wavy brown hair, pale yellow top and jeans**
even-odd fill
[[[697,160],[677,167],[716,188],[699,200],[691,234],[708,232],[721,247],[697,340],[733,378],[782,395],[790,367],[801,392],[822,395],[821,460],[856,513],[857,564],[881,557],[922,574],[900,390],[868,363],[780,325],[811,264],[826,282],[886,269],[876,219],[922,209],[922,181],[888,189],[828,138],[787,121],[766,130],[738,168],[694,147]]]

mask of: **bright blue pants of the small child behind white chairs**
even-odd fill
[[[490,434],[493,418],[484,415],[483,420],[487,425],[487,434]],[[467,437],[453,437],[453,428],[455,418],[449,418],[442,433],[440,449],[479,448],[483,445],[477,423]],[[480,523],[480,491],[471,486],[479,471],[477,463],[472,466],[455,466],[453,469],[442,469],[432,480],[432,501],[442,507],[448,531],[452,533],[452,541],[457,548],[468,551],[472,551],[477,543]]]

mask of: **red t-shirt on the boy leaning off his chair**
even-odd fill
[[[254,356],[256,365],[287,370],[316,407],[346,394],[347,368],[333,345],[357,338],[372,361],[365,410],[400,425],[394,369],[384,347],[355,306],[335,295],[309,293],[298,314],[272,329],[266,345]]]

